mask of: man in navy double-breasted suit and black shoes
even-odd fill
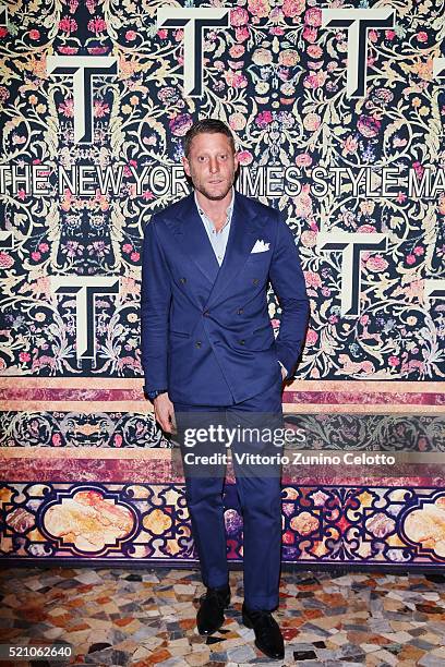
[[[191,423],[257,424],[282,416],[282,380],[300,355],[309,302],[293,237],[278,211],[237,193],[233,137],[220,121],[196,122],[184,138],[183,168],[194,193],[146,226],[142,282],[145,391],[161,428],[183,435]],[[277,339],[267,283],[280,300]],[[212,421],[212,420],[211,420]],[[263,419],[264,422],[264,419]],[[225,444],[215,445],[217,451]],[[234,452],[269,451],[234,441]],[[185,448],[182,442],[182,451]],[[277,452],[275,452],[277,453]],[[234,465],[243,513],[243,622],[267,656],[282,658],[270,611],[278,605],[280,465]],[[225,465],[184,465],[192,531],[203,582],[201,634],[218,630],[230,602],[222,486]]]

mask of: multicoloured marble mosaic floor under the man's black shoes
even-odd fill
[[[76,665],[445,665],[445,577],[285,572],[279,663],[240,624],[242,573],[230,579],[226,623],[206,640],[195,630],[196,571],[2,568],[0,643],[67,642]],[[61,663],[11,663],[46,664]]]

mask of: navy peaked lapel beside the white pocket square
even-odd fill
[[[233,215],[226,254],[208,298],[207,307],[215,304],[236,279],[245,264],[265,221],[264,218],[257,218],[252,214],[240,195],[237,192],[234,193]]]

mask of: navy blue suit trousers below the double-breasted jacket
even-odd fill
[[[243,402],[221,407],[175,403],[192,533],[203,583],[211,587],[228,583],[222,493],[229,454],[228,438],[212,436],[222,433],[218,428],[232,433],[231,461],[243,519],[244,599],[251,609],[278,606],[282,439],[279,444],[274,436],[281,433],[282,437],[284,422],[281,369],[277,366],[274,384]],[[204,463],[203,457],[207,457]]]

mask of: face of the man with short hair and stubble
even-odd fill
[[[207,199],[224,199],[233,185],[238,157],[225,134],[197,134],[191,143],[189,158],[182,158],[188,177]]]

